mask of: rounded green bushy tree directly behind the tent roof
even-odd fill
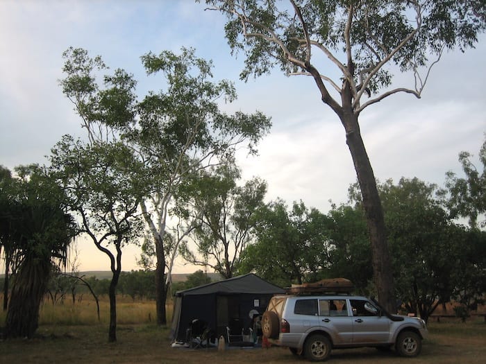
[[[254,216],[256,242],[242,254],[239,272],[255,272],[280,286],[315,281],[328,266],[328,219],[303,202],[290,211],[283,200]]]

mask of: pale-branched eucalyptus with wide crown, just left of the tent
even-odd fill
[[[82,49],[69,49],[65,58],[61,85],[88,130],[90,144],[122,142],[124,155],[131,151],[137,165],[128,180],[143,195],[137,202],[155,246],[157,322],[165,324],[167,286],[177,252],[177,243],[167,249],[165,243],[173,240],[165,234],[178,187],[201,169],[231,159],[242,144],[254,153],[270,128],[269,118],[260,112],[221,112],[219,101],[235,101],[235,88],[227,80],[212,82],[212,62],[197,58],[194,49],[182,49],[180,55],[143,55],[146,73],[161,75],[162,88],[141,101],[126,71],[104,75],[100,85],[99,71],[107,68],[101,58],[90,58]]]

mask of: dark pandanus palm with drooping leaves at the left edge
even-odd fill
[[[65,212],[64,191],[45,169],[37,165],[19,166],[15,168],[15,178],[6,170],[3,172],[1,243],[8,247],[7,259],[15,257],[16,264],[5,334],[32,338],[51,268],[53,264],[66,262],[76,225]],[[8,278],[9,272],[6,273]]]

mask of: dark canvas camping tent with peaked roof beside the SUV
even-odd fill
[[[252,323],[250,311],[263,313],[271,296],[280,293],[285,290],[253,273],[178,291],[171,339],[185,341],[187,329],[195,319],[206,322],[217,337],[226,336],[226,327],[233,331],[236,327],[247,329]]]

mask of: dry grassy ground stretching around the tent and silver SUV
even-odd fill
[[[170,311],[170,310],[169,310]],[[108,304],[101,322],[89,300],[42,306],[40,328],[33,340],[0,341],[0,363],[307,363],[288,349],[174,349],[169,328],[154,324],[154,302],[119,300],[117,343],[108,343]],[[4,322],[4,313],[0,313]],[[482,318],[430,322],[430,338],[417,358],[399,358],[376,349],[334,350],[331,363],[483,363],[486,324]]]

